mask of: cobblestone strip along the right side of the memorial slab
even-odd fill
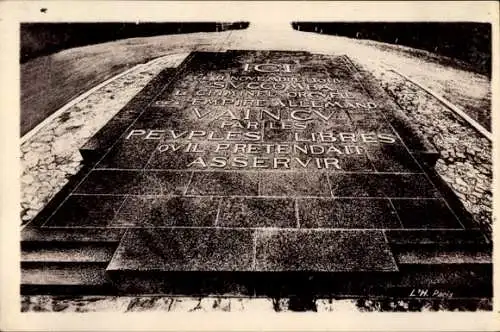
[[[439,151],[435,166],[438,174],[475,221],[491,230],[491,142],[434,97],[396,73],[378,71],[374,74]]]

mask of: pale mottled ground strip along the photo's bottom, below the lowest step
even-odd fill
[[[105,297],[23,296],[22,312],[432,312],[491,310],[491,300],[449,301],[414,300],[334,300],[318,299],[304,306],[293,299],[216,298],[216,297]]]

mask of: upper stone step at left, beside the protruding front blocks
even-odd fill
[[[100,262],[108,263],[115,243],[51,243],[49,246],[24,244],[21,264],[27,262]]]

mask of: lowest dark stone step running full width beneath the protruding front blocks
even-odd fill
[[[491,297],[490,264],[453,267],[406,265],[398,273],[227,273],[127,271],[116,279],[102,264],[22,267],[22,294],[169,294],[227,296],[417,296],[416,290],[453,297]],[[110,281],[112,280],[112,282]],[[439,296],[434,296],[439,297]]]

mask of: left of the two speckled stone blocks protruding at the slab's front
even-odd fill
[[[249,230],[139,228],[121,243],[108,271],[250,271],[253,265]]]

